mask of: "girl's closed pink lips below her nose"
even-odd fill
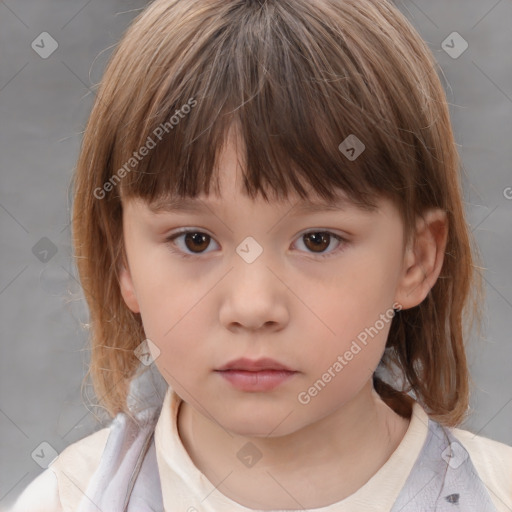
[[[237,359],[215,370],[241,391],[270,391],[298,372],[273,359]]]

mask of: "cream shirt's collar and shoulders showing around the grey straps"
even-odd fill
[[[155,447],[166,512],[187,509],[249,512],[231,500],[199,471],[178,434],[180,398],[169,388],[155,428]],[[316,509],[316,512],[383,512],[391,510],[423,447],[428,416],[414,404],[409,428],[386,463],[355,493]],[[512,447],[473,433],[452,430],[468,451],[498,512],[512,511]],[[72,512],[78,507],[87,484],[98,467],[107,442],[104,428],[68,446],[50,467],[22,492],[10,512]],[[205,499],[205,497],[207,498]],[[183,504],[181,508],[179,505]],[[177,508],[178,507],[178,508]]]

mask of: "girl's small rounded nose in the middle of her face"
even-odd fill
[[[234,258],[224,279],[219,320],[231,331],[283,329],[289,321],[288,288],[279,270],[271,268],[265,251],[252,263]]]

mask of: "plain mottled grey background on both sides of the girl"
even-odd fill
[[[61,452],[103,426],[87,405],[92,391],[81,393],[87,310],[71,259],[69,185],[91,84],[145,4],[0,0],[0,508],[43,471],[31,456],[41,442]],[[484,261],[486,323],[483,339],[468,341],[475,388],[462,428],[512,445],[512,2],[398,6],[442,66]],[[457,58],[442,46],[454,31],[469,44]],[[46,59],[31,48],[42,32],[58,43]],[[57,252],[45,261],[33,251],[41,244]]]

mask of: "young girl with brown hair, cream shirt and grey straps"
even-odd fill
[[[391,4],[151,3],[74,183],[113,420],[14,510],[512,510],[512,448],[456,428],[482,302],[458,172]]]

